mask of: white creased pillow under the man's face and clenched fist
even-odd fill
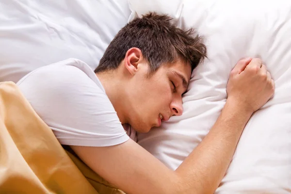
[[[231,69],[242,57],[259,57],[275,80],[275,96],[246,125],[217,193],[290,193],[291,2],[129,0],[129,6],[131,18],[156,11],[197,29],[209,56],[192,74],[183,115],[138,134],[139,144],[176,169],[221,112]]]

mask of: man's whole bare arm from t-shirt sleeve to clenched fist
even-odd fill
[[[117,146],[72,148],[101,177],[128,194],[213,193],[226,172],[245,124],[274,93],[274,81],[264,65],[260,68],[261,61],[249,62],[242,60],[236,65],[221,115],[176,171],[168,169],[132,140]]]

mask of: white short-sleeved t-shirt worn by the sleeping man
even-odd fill
[[[101,82],[80,60],[40,67],[17,85],[63,145],[113,146],[129,140]]]

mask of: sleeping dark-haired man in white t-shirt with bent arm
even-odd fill
[[[244,126],[274,93],[274,81],[260,59],[237,63],[220,116],[175,171],[139,146],[130,128],[145,133],[181,115],[191,73],[205,57],[206,46],[193,30],[149,13],[118,32],[95,72],[68,59],[36,69],[17,84],[59,142],[124,192],[213,193]]]

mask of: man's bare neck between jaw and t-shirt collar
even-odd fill
[[[128,123],[124,110],[126,110],[126,94],[124,85],[122,84],[122,78],[118,77],[118,74],[112,72],[100,72],[96,73],[99,81],[105,89],[106,95],[111,101],[117,116],[122,124]]]

